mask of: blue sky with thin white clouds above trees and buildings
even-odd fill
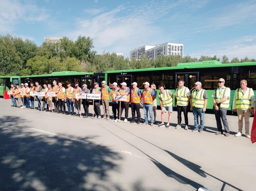
[[[0,34],[93,38],[97,54],[183,43],[191,57],[256,58],[255,0],[1,0]]]

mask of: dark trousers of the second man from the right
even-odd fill
[[[229,124],[228,124],[228,120],[226,118],[227,109],[226,108],[219,108],[218,111],[214,110],[214,114],[215,114],[215,119],[216,119],[218,131],[223,133],[222,125],[221,125],[221,120],[222,120],[225,132],[229,133]]]

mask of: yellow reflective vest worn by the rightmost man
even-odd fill
[[[235,94],[236,94],[236,109],[251,109],[251,103],[252,103],[252,88],[248,88],[245,91],[244,95],[242,93],[241,88],[236,89]],[[243,100],[241,100],[243,98]]]

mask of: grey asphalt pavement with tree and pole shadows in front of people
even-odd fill
[[[212,113],[205,114],[205,129],[199,133],[191,131],[191,112],[190,128],[185,130],[184,119],[182,128],[175,129],[176,111],[170,128],[165,128],[130,123],[130,108],[128,122],[123,122],[123,112],[118,123],[93,119],[92,105],[90,117],[80,118],[9,104],[0,98],[2,191],[196,191],[200,187],[251,191],[256,187],[256,143],[234,136],[237,116],[227,116],[230,136],[225,137],[215,135]],[[165,122],[167,118],[165,113]],[[161,123],[161,110],[156,120]]]

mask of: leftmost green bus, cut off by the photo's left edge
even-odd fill
[[[4,95],[4,91],[9,91],[11,84],[20,84],[19,76],[0,76],[0,96]],[[7,95],[7,92],[5,92]],[[5,96],[6,96],[5,95]],[[9,96],[8,96],[9,97]]]

